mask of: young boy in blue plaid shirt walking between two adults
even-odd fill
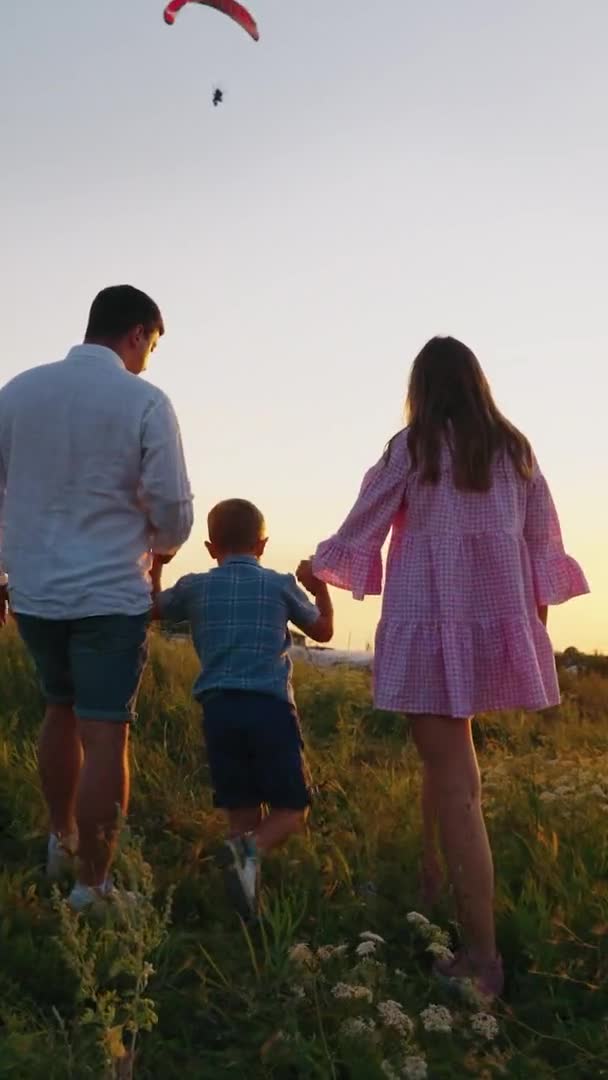
[[[214,801],[228,814],[220,862],[232,901],[249,918],[257,913],[259,856],[303,827],[310,804],[287,623],[329,642],[334,612],[327,586],[312,573],[305,583],[316,604],[293,575],[260,565],[268,537],[251,502],[218,503],[207,525],[205,546],[217,567],[159,593],[156,615],[190,623]]]

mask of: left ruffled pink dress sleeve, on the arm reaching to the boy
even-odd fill
[[[319,544],[313,572],[354,599],[382,592],[382,545],[397,515],[405,511],[408,454],[405,432],[365,474],[359,498],[343,525]]]

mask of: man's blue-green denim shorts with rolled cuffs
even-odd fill
[[[83,720],[135,717],[148,658],[149,612],[89,619],[15,615],[50,705],[73,705]]]

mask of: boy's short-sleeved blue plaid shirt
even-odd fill
[[[293,702],[292,638],[287,623],[306,633],[319,609],[292,573],[233,555],[207,573],[189,573],[158,597],[161,619],[189,622],[206,690],[251,690]]]

